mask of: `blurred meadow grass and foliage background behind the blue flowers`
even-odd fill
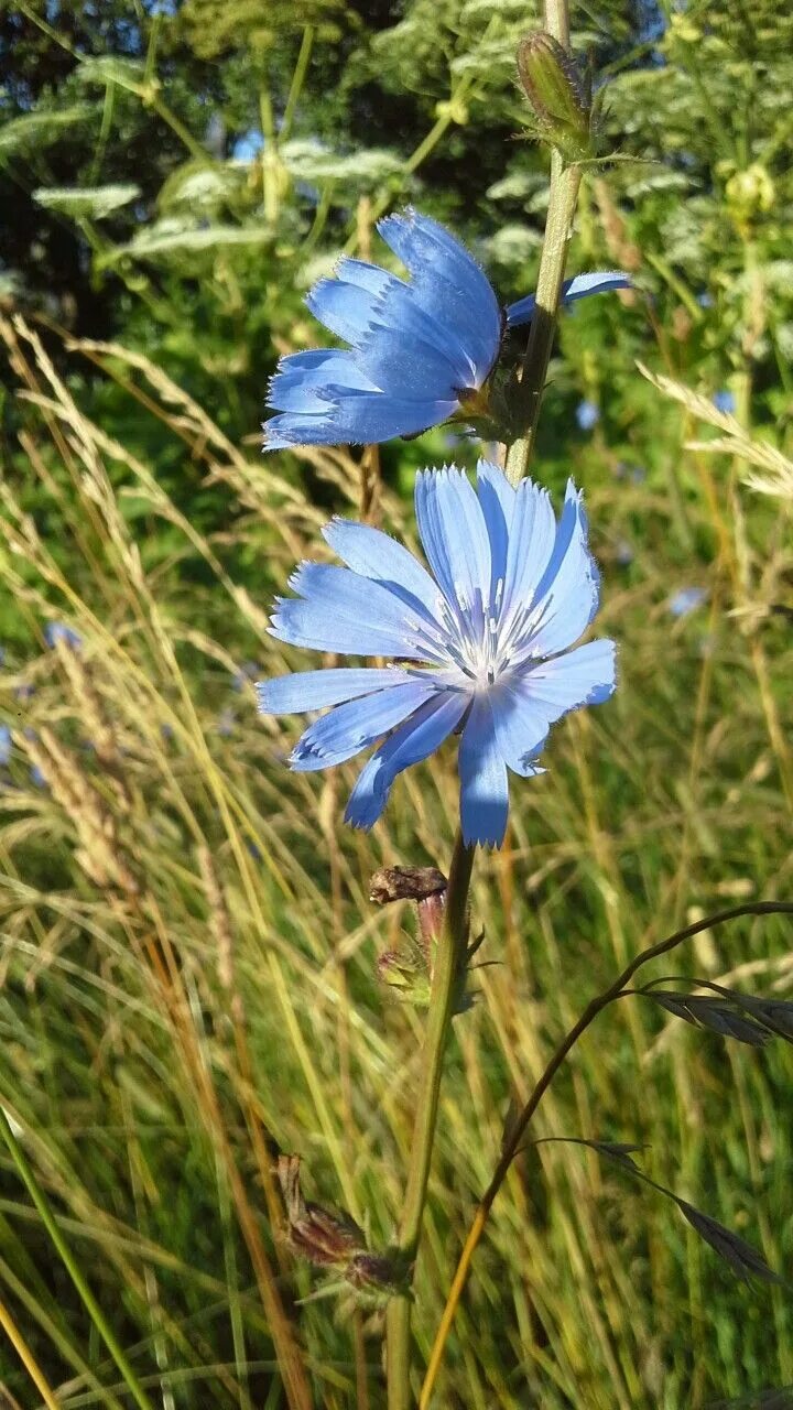
[[[536,24],[522,0],[0,4],[0,1103],[162,1410],[286,1406],[288,1344],[316,1406],[384,1403],[378,1314],[296,1306],[320,1280],[278,1237],[271,1142],[387,1244],[422,1021],[377,980],[412,922],[368,878],[446,864],[453,750],[349,832],[354,771],[291,776],[298,723],[258,719],[253,681],[306,664],[267,609],[325,519],[412,541],[416,467],[480,447],[262,457],[258,423],[278,355],[320,341],[306,289],[344,250],[384,259],[389,209],[444,220],[504,300],[533,288],[547,155],[514,55]],[[557,726],[477,863],[497,963],[454,1025],[419,1365],[504,1117],[588,998],[676,926],[792,894],[793,17],[604,0],[573,31],[619,161],[584,176],[569,272],[635,289],[563,316],[533,474],[586,489],[621,684]],[[790,995],[790,925],[708,931],[653,973]],[[645,1145],[785,1273],[792,1070],[632,1000],[535,1134]],[[790,1292],[552,1144],[495,1204],[436,1403],[790,1383]],[[6,1152],[1,1394],[134,1403]]]

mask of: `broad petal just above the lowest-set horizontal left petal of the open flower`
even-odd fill
[[[306,601],[278,599],[271,632],[281,642],[353,656],[436,658],[435,623],[370,578],[303,563],[289,587]]]

